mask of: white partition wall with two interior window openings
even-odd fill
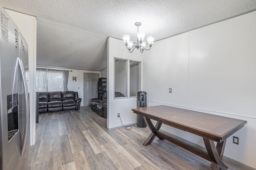
[[[122,123],[124,125],[136,124],[136,114],[132,112],[136,108],[136,98],[118,98],[114,99],[114,57],[122,59],[131,59],[135,61],[142,61],[142,54],[138,50],[129,53],[124,45],[124,42],[112,37],[108,38],[108,129],[121,127],[120,118],[117,113],[120,113]],[[129,67],[128,67],[129,73]],[[129,76],[129,75],[128,75]],[[129,82],[129,81],[128,81]],[[129,84],[128,84],[129,94]]]

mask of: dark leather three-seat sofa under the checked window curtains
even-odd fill
[[[38,111],[39,113],[79,110],[81,98],[74,91],[54,91],[54,92],[38,92]]]

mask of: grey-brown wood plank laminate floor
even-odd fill
[[[122,117],[121,117],[122,118]],[[90,107],[44,113],[30,149],[32,170],[208,170],[210,162],[157,137],[147,128],[106,130]],[[122,120],[125,123],[125,120]],[[230,170],[243,170],[224,161]]]

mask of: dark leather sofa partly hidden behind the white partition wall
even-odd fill
[[[124,97],[124,94],[120,92],[115,92],[115,98]],[[91,103],[92,111],[96,112],[98,115],[107,118],[108,109],[108,92],[104,92],[102,98],[93,98]]]

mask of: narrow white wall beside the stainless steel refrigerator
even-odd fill
[[[6,10],[6,9],[5,9]],[[6,10],[28,43],[30,145],[36,142],[36,17]]]

